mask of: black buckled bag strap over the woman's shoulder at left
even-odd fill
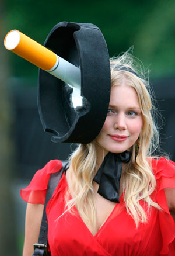
[[[62,162],[61,170],[58,172],[54,172],[53,174],[50,175],[47,193],[46,193],[46,200],[44,203],[43,217],[41,220],[40,234],[39,234],[39,238],[38,238],[38,243],[34,244],[34,252],[32,254],[33,256],[48,256],[49,255],[47,252],[48,224],[47,224],[46,206],[47,206],[48,201],[51,199],[51,197],[55,191],[55,188],[57,187],[58,183],[60,182],[63,172],[67,168],[68,168],[68,162]]]

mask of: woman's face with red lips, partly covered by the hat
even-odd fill
[[[138,139],[142,124],[138,95],[133,87],[122,82],[111,88],[108,114],[96,141],[105,155],[124,152]]]

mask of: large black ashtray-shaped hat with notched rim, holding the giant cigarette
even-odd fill
[[[38,109],[52,141],[90,143],[100,133],[110,101],[110,62],[100,29],[89,23],[60,22],[44,43],[55,54],[81,68],[81,104],[65,82],[39,70]]]

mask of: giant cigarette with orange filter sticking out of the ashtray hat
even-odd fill
[[[81,91],[81,70],[18,30],[5,37],[6,49]]]

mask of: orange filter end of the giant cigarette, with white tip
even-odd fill
[[[13,42],[12,44],[8,43],[9,39]],[[57,56],[53,51],[48,50],[19,30],[11,30],[4,39],[4,45],[6,49],[13,51],[42,70],[51,70],[57,61]]]

